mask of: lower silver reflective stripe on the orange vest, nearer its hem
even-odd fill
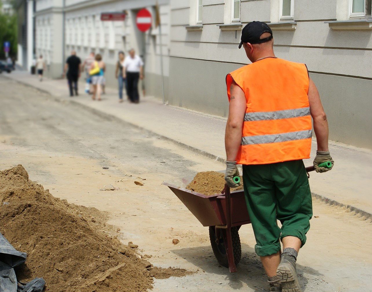
[[[272,135],[257,135],[257,136],[246,136],[241,139],[241,145],[252,145],[252,144],[267,144],[267,143],[278,143],[292,140],[302,140],[311,138],[312,131],[304,130],[298,132],[289,132],[282,134]]]

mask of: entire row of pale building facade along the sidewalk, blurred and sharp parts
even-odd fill
[[[100,53],[107,84],[116,86],[117,54],[134,48],[145,61],[146,94],[161,98],[162,50],[168,103],[226,117],[225,76],[250,62],[238,49],[241,29],[260,20],[273,29],[276,56],[307,64],[328,115],[330,139],[370,148],[371,1],[159,0],[160,45],[155,0],[18,0],[28,24],[19,32],[27,34],[19,52],[28,69],[35,55],[44,55],[52,78],[61,77],[72,50],[82,60],[91,51]],[[141,33],[135,15],[144,7],[153,26]],[[124,12],[126,18],[101,21],[102,12]]]

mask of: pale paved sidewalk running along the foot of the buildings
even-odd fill
[[[151,97],[141,98],[140,104],[118,103],[117,91],[112,88],[106,88],[102,101],[92,101],[83,93],[83,83],[80,84],[80,96],[71,98],[68,96],[66,80],[45,78],[40,82],[35,75],[24,71],[13,71],[4,76],[46,91],[58,99],[70,100],[97,113],[114,116],[212,159],[221,162],[225,159],[224,118],[163,106],[161,101]],[[312,165],[316,148],[313,139],[312,157],[305,160],[305,166]],[[330,152],[335,166],[328,173],[311,173],[311,191],[325,201],[344,205],[371,218],[372,151],[330,142]]]

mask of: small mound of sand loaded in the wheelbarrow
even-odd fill
[[[240,177],[241,179],[241,177]],[[241,179],[243,182],[243,180]],[[217,171],[204,171],[196,174],[192,182],[186,186],[190,191],[198,192],[203,195],[221,194],[225,186],[224,173]],[[231,191],[243,189],[243,185],[232,188]]]

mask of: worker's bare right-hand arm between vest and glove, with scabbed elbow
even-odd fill
[[[314,82],[309,84],[310,114],[314,121],[314,132],[317,137],[318,151],[328,151],[328,121],[324,112],[320,95]]]

